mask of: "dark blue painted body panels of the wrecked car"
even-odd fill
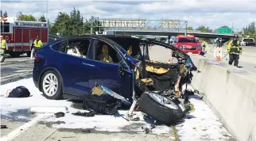
[[[131,101],[132,85],[130,80],[132,73],[130,69],[127,70],[124,76],[119,77],[118,64],[103,63],[97,60],[68,55],[61,51],[56,51],[58,46],[60,46],[60,41],[37,51],[39,60],[35,60],[33,68],[33,82],[37,88],[41,90],[41,77],[45,71],[55,70],[60,75],[63,93],[84,97],[97,82],[99,85],[107,86],[116,93],[122,93],[123,97]],[[122,51],[119,51],[118,48],[114,49],[118,51],[120,58],[125,60]],[[92,44],[90,44],[88,54],[91,54],[92,51]],[[128,65],[127,68],[129,68]]]

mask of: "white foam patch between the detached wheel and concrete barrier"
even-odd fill
[[[184,86],[183,86],[184,88]],[[188,85],[189,90],[194,90]],[[195,95],[194,97],[199,97]],[[176,125],[179,139],[183,141],[204,141],[204,140],[228,140],[231,139],[231,134],[223,127],[219,118],[208,107],[208,105],[198,99],[191,98],[189,100],[196,109],[187,115],[184,122]]]

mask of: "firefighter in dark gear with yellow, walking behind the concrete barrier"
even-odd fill
[[[242,47],[240,46],[240,41],[238,40],[239,36],[235,34],[233,39],[227,44],[227,51],[229,54],[228,64],[232,65],[234,62],[234,66],[238,67],[239,65],[239,55],[242,54]]]

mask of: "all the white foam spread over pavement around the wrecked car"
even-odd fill
[[[11,82],[0,86],[0,95],[6,96],[6,90],[17,86],[25,86],[29,89],[32,97],[26,98],[8,98],[0,97],[1,114],[10,116],[10,112],[16,112],[17,109],[29,109],[32,106],[66,106],[68,113],[64,117],[48,117],[44,122],[64,121],[65,124],[53,124],[52,128],[95,128],[98,131],[142,131],[142,126],[147,124],[143,120],[142,112],[138,112],[139,121],[127,121],[121,116],[93,116],[83,117],[72,115],[72,112],[85,112],[84,110],[72,108],[70,101],[54,101],[43,97],[41,92],[33,84],[32,78],[22,79],[17,82]],[[191,86],[188,88],[192,89]],[[181,140],[223,140],[225,135],[230,135],[219,122],[214,112],[204,103],[197,99],[190,99],[195,105],[196,112],[188,116],[194,116],[191,119],[185,119],[184,123],[176,126]],[[119,111],[123,116],[127,111]],[[20,116],[21,118],[25,118]],[[153,129],[153,134],[169,133],[172,129],[163,125]]]

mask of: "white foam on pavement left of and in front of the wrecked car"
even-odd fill
[[[6,97],[6,91],[14,89],[17,86],[25,86],[32,97],[25,98],[10,98]],[[0,86],[0,95],[5,97],[0,97],[1,114],[6,116],[11,116],[11,112],[17,112],[18,109],[29,109],[33,106],[66,106],[68,108],[68,113],[64,117],[56,118],[49,117],[42,121],[44,122],[55,122],[64,121],[65,124],[53,124],[52,128],[95,128],[98,131],[142,131],[142,126],[147,123],[143,120],[141,112],[138,112],[140,116],[139,121],[127,121],[122,118],[123,115],[128,111],[119,111],[122,116],[93,116],[93,117],[83,117],[72,115],[72,112],[87,112],[85,110],[79,110],[72,108],[72,102],[65,100],[48,100],[42,96],[42,93],[34,86],[33,79],[27,78],[22,79],[17,82],[11,82],[6,85]],[[18,116],[25,118],[23,116]],[[152,130],[153,134],[169,133],[171,128],[163,125],[157,126]]]

